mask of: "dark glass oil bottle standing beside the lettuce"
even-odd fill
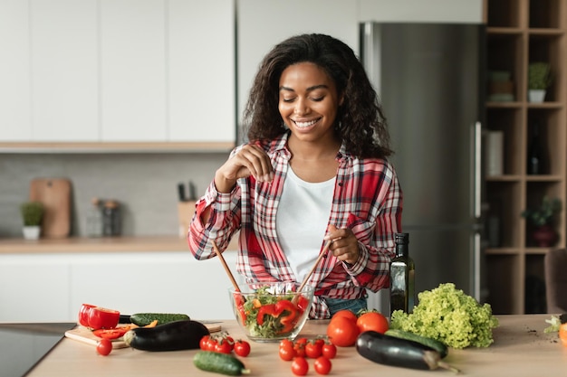
[[[409,257],[409,234],[396,233],[396,257],[389,264],[389,316],[395,310],[412,313],[415,300],[415,265]]]

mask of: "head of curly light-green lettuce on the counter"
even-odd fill
[[[418,294],[419,304],[412,314],[396,310],[390,327],[427,336],[452,348],[487,347],[494,343],[492,329],[498,319],[489,304],[480,305],[474,297],[456,289],[455,284],[440,284]]]

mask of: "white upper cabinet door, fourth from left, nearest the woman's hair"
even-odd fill
[[[234,0],[168,6],[169,140],[234,143]]]

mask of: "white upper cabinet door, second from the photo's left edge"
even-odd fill
[[[96,140],[97,1],[30,4],[34,140]]]

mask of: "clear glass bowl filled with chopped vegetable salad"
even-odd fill
[[[255,342],[294,339],[309,317],[313,287],[295,282],[258,282],[229,289],[236,321]]]

